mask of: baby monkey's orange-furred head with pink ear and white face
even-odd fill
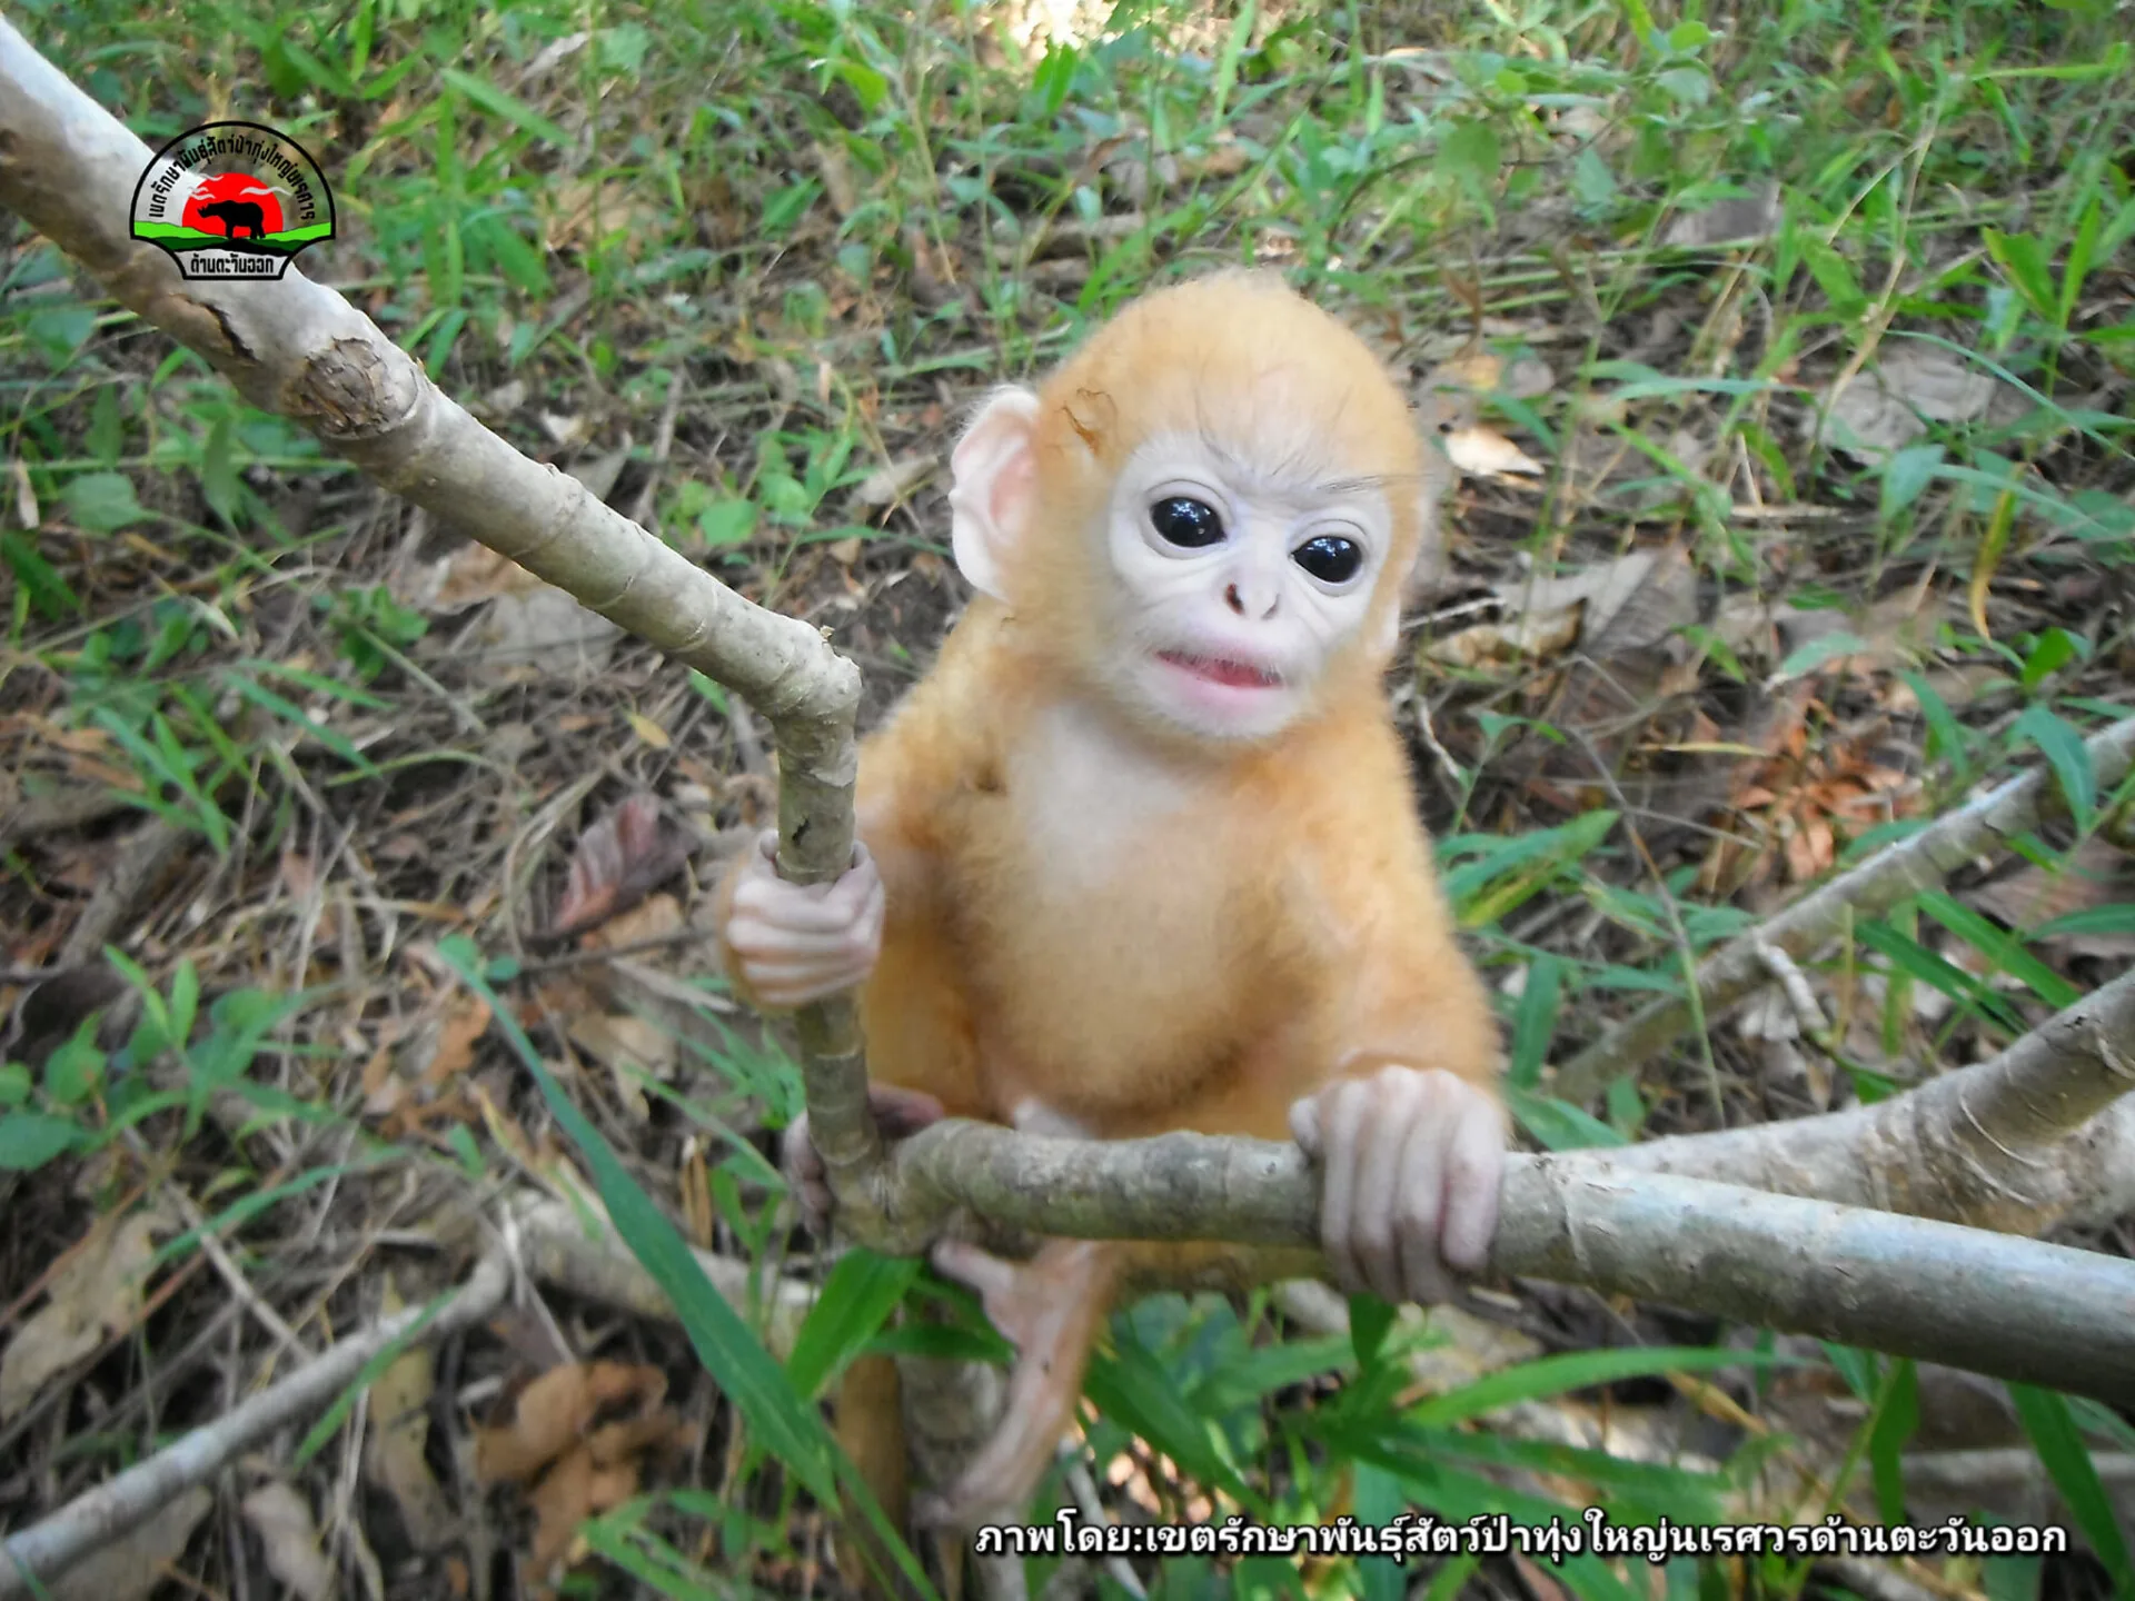
[[[1136,722],[1262,741],[1383,670],[1428,463],[1362,339],[1219,273],[986,401],[952,457],[956,566]]]

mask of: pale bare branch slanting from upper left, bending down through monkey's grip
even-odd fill
[[[256,406],[316,433],[448,527],[568,589],[773,724],[779,871],[820,884],[852,862],[860,672],[794,617],[743,600],[576,478],[527,461],[444,395],[335,290],[280,280],[190,282],[128,231],[152,152],[0,17],[0,205],[111,295],[199,352]],[[882,1208],[882,1146],[850,999],[807,1008],[803,1076],[816,1144],[863,1238]]]

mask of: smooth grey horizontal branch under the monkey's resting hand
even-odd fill
[[[939,1208],[1044,1234],[1315,1247],[1294,1144],[1040,1140],[948,1121],[892,1151]],[[1573,1157],[1507,1159],[1490,1272],[2135,1402],[2135,1262]]]

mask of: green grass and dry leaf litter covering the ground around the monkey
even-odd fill
[[[224,115],[303,143],[339,237],[299,269],[521,450],[833,628],[869,719],[961,604],[944,461],[989,382],[1200,267],[1341,310],[1460,467],[1390,692],[1544,1148],[1872,1101],[2135,952],[2129,786],[2084,749],[2135,700],[2112,0],[15,21],[152,147]],[[997,1343],[914,1264],[831,1268],[792,1227],[771,1153],[798,1078],[698,926],[700,879],[773,805],[747,709],[248,408],[17,224],[0,574],[0,1520],[226,1409],[380,1285],[436,1294],[506,1189],[634,1183],[645,1230],[822,1283],[784,1366],[709,1291],[677,1291],[690,1341],[551,1294],[233,1490],[301,1486],[344,1592],[538,1592],[570,1550],[600,1558],[572,1595],[835,1590],[811,1402],[863,1349]],[[1864,918],[1808,973],[1815,1018],[1774,990],[1595,1104],[1550,1093],[1550,1063],[1796,886],[2024,764],[2056,820]],[[1114,1321],[1033,1522],[2045,1518],[2086,1550],[1911,1582],[2135,1595],[2135,1428],[2101,1405],[1520,1291],[1503,1326],[1153,1298]],[[628,1481],[485,1494],[459,1447],[508,1428],[529,1373],[594,1358],[655,1375],[623,1385],[660,1422]],[[1928,1488],[1917,1464],[1958,1447],[2024,1452]],[[260,1552],[295,1586],[278,1539],[233,1511],[137,1567],[265,1595]],[[1371,1601],[1870,1582],[1593,1554],[1078,1575]]]

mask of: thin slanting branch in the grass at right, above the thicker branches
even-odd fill
[[[2135,762],[2135,717],[2101,728],[2084,741],[2084,747],[2090,751],[2099,786],[2120,783]],[[1881,916],[1904,897],[1934,888],[2007,837],[2037,828],[2041,807],[2052,792],[2054,775],[2045,766],[2009,779],[1729,939],[1697,963],[1695,982],[1704,1012],[1712,1016],[1772,982],[1761,946],[1778,946],[1789,956],[1808,961],[1843,933],[1849,918]],[[1691,1003],[1682,997],[1646,1003],[1556,1067],[1548,1080],[1550,1093],[1567,1101],[1593,1099],[1610,1080],[1674,1044],[1691,1027]]]

